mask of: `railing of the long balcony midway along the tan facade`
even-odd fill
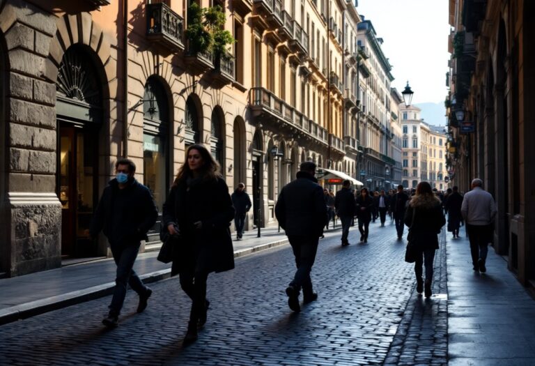
[[[277,118],[286,122],[288,126],[306,132],[319,142],[327,144],[328,134],[325,128],[311,119],[307,119],[307,116],[304,116],[297,109],[277,98],[271,91],[264,88],[252,88],[249,91],[249,105],[257,111],[261,109],[261,112],[267,112],[272,116],[277,116]]]

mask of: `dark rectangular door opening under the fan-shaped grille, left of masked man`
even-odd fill
[[[97,131],[68,123],[60,123],[59,131],[61,257],[95,257],[97,243],[86,230],[98,202]]]

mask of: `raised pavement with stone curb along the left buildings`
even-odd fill
[[[246,231],[241,241],[233,236],[234,257],[242,257],[261,250],[285,245],[288,239],[277,227]],[[156,260],[158,252],[141,253],[134,270],[145,283],[171,275],[171,264]],[[71,266],[63,266],[19,277],[0,280],[0,325],[33,317],[107,296],[115,286],[116,265],[113,259],[100,259]]]

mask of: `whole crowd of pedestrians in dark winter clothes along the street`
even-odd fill
[[[206,323],[210,307],[206,293],[208,275],[234,268],[231,221],[235,223],[236,240],[241,240],[251,208],[245,184],[239,183],[230,195],[219,174],[219,165],[206,147],[189,146],[186,158],[162,213],[162,238],[169,241],[162,245],[162,250],[170,245],[171,275],[178,275],[180,287],[192,300],[185,344],[194,342],[198,330]],[[88,231],[92,238],[100,231],[107,236],[117,265],[116,287],[108,315],[102,321],[109,328],[118,325],[128,285],[139,295],[137,312],[143,312],[148,305],[152,290],[141,282],[133,266],[141,241],[146,240],[157,219],[150,190],[134,178],[134,162],[118,160],[115,167],[116,178],[104,189]],[[395,223],[398,240],[403,238],[407,226],[417,292],[424,292],[426,297],[432,294],[433,259],[439,245],[438,234],[446,224],[445,215],[447,230],[453,238],[458,238],[460,226],[466,225],[473,269],[486,272],[496,207],[492,195],[483,190],[481,179],[472,181],[472,190],[464,197],[458,187],[442,195],[425,181],[408,192],[398,185],[397,192],[370,193],[367,188],[353,190],[351,182],[346,180],[334,194],[322,188],[315,175],[316,165],[302,162],[296,179],[279,192],[274,208],[295,259],[295,275],[286,287],[290,310],[300,311],[301,292],[304,304],[318,298],[313,291],[311,270],[323,231],[329,229],[329,222],[334,224],[336,217],[341,222],[343,247],[350,245],[349,232],[355,220],[361,243],[368,242],[370,222],[378,218],[380,227],[384,227],[389,215]]]

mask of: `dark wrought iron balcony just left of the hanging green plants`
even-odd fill
[[[147,39],[168,47],[171,51],[184,49],[184,22],[165,3],[146,5]]]

